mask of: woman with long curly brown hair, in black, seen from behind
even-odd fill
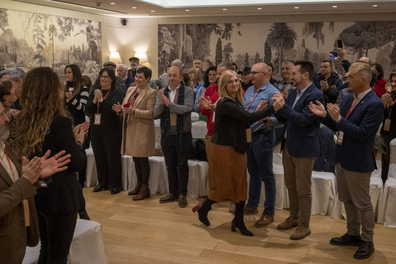
[[[77,125],[64,107],[63,85],[49,67],[30,70],[22,85],[17,143],[24,156],[42,157],[62,150],[70,154],[70,163],[43,181],[34,196],[40,231],[38,263],[66,263],[80,207],[76,172],[86,163],[82,150],[89,124]]]

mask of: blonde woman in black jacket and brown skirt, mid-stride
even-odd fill
[[[247,197],[247,160],[246,150],[249,141],[249,123],[259,121],[284,106],[280,93],[272,98],[274,104],[262,101],[256,112],[244,110],[242,87],[236,72],[226,70],[219,80],[219,100],[216,102],[215,124],[209,159],[209,178],[212,186],[208,198],[202,205],[196,205],[192,211],[198,211],[199,220],[209,226],[208,212],[215,201],[231,199],[235,203],[235,217],[231,222],[231,231],[236,228],[242,235],[253,236],[244,224],[244,207]]]

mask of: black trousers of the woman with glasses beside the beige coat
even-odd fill
[[[112,128],[98,126],[92,125],[90,135],[98,182],[105,188],[121,188],[121,126]]]

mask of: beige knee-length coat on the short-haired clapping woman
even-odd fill
[[[122,105],[128,103],[129,99],[137,89],[137,86],[129,87]],[[125,137],[125,113],[122,125],[121,154],[133,157],[151,157],[154,154],[155,126],[154,106],[157,91],[146,85],[137,97],[133,108],[135,114],[129,114],[126,131],[126,148],[124,152]]]

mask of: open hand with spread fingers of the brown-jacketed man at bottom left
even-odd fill
[[[54,173],[67,169],[67,166],[65,165],[70,162],[69,158],[71,155],[67,154],[65,156],[62,156],[65,153],[66,151],[62,150],[58,154],[48,159],[49,155],[51,154],[51,150],[48,150],[46,154],[44,154],[44,156],[42,156],[41,158],[40,178],[45,178],[53,175]]]

